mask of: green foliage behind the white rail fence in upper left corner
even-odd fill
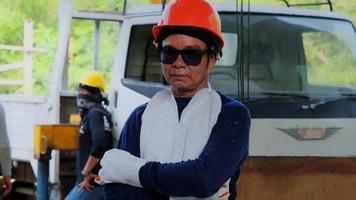
[[[0,1],[0,44],[23,45],[25,20],[34,22],[34,46],[43,48],[45,53],[35,53],[33,57],[33,91],[45,94],[48,91],[50,64],[56,49],[57,5],[53,0],[2,0]],[[35,11],[35,12],[34,12]],[[22,62],[23,53],[0,50],[0,64]],[[1,79],[19,80],[21,70],[0,73]],[[0,86],[0,93],[22,93],[19,86]]]

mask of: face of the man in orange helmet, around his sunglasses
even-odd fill
[[[197,39],[183,34],[173,34],[162,41],[162,49],[172,50],[206,50],[206,44]],[[184,52],[183,52],[184,53]],[[197,65],[188,65],[182,54],[171,64],[162,63],[163,75],[172,86],[174,96],[191,97],[200,89],[208,86],[209,69],[214,67],[216,57],[212,54],[202,54]]]

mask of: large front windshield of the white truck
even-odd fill
[[[252,100],[272,94],[284,99],[289,94],[292,98],[302,95],[335,100],[356,93],[356,34],[352,23],[327,18],[251,15],[249,30],[246,22],[244,30],[237,31],[236,21],[240,21],[236,15],[222,15],[226,46],[223,57],[210,73],[215,89],[237,97],[238,77],[245,77],[245,90]],[[242,54],[236,48],[240,35],[244,37]],[[243,76],[239,55],[243,55]]]

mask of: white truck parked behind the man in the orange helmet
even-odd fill
[[[168,87],[151,34],[162,7],[142,6],[118,15],[76,12],[69,0],[61,1],[51,94],[0,96],[14,160],[31,163],[36,172],[34,124],[65,123],[75,113],[75,94],[62,87],[74,18],[119,22],[108,93],[113,134],[118,139],[131,111]],[[252,116],[250,156],[238,183],[239,198],[354,199],[356,32],[351,20],[334,12],[295,8],[236,4],[216,8],[226,45],[210,73],[210,84],[242,101]],[[70,153],[61,157],[60,152],[52,152],[50,182],[59,189],[69,180],[64,172],[70,169],[65,162],[68,157]]]

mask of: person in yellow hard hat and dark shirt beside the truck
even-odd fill
[[[81,116],[77,182],[66,200],[104,199],[103,186],[93,181],[100,169],[100,159],[113,145],[111,115],[102,105],[105,101],[102,96],[104,88],[104,78],[97,71],[90,71],[80,79],[77,95],[77,107]]]

